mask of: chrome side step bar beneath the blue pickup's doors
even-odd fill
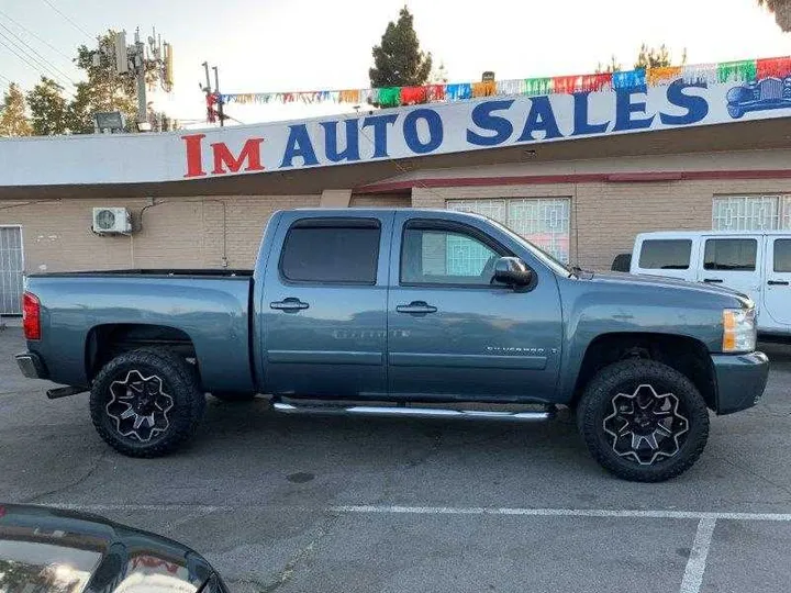
[[[387,405],[294,405],[275,402],[272,407],[283,414],[341,414],[358,416],[408,416],[411,418],[494,419],[510,422],[546,421],[555,415],[553,409],[536,412],[500,412],[488,410],[447,410],[439,407],[396,407]]]

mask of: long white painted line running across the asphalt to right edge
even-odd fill
[[[716,513],[703,511],[628,511],[608,508],[509,508],[489,506],[331,506],[335,513],[406,514],[406,515],[517,515],[528,517],[614,517],[671,519],[729,519],[791,522],[791,513]]]

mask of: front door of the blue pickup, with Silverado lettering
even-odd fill
[[[523,256],[482,227],[396,214],[388,296],[388,382],[421,399],[550,401],[562,336],[554,275],[517,292],[492,283],[500,256]],[[423,214],[421,213],[421,216]]]

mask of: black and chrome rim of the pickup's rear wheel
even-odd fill
[[[167,391],[157,374],[146,376],[136,369],[110,383],[110,400],[104,410],[115,432],[140,443],[149,443],[166,433],[174,407]]]

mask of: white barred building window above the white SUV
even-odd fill
[[[791,195],[714,198],[712,228],[714,231],[791,228]]]

